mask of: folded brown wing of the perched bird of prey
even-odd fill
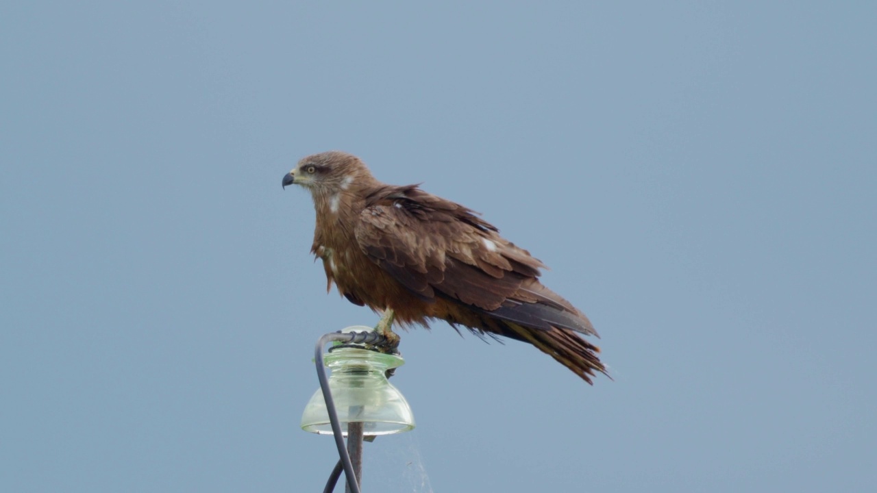
[[[424,300],[448,297],[531,328],[595,334],[588,318],[538,282],[541,261],[473,211],[416,185],[375,190],[355,235],[369,259]]]

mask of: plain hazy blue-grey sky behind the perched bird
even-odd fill
[[[877,490],[877,7],[4,2],[0,490],[319,491],[304,155],[484,213],[614,381],[443,324],[365,491]]]

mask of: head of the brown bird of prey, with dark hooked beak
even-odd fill
[[[358,182],[374,181],[365,163],[353,154],[340,151],[313,154],[298,161],[296,168],[283,175],[283,188],[302,185],[317,195],[346,190]]]

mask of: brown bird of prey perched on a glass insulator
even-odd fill
[[[585,315],[545,288],[545,265],[466,207],[419,189],[374,179],[352,154],[332,151],[298,162],[283,187],[310,190],[317,210],[311,253],[353,304],[393,323],[445,320],[483,337],[529,342],[586,382],[606,373]],[[458,330],[459,332],[459,330]],[[390,332],[391,333],[391,332]],[[392,334],[395,336],[395,334]]]

